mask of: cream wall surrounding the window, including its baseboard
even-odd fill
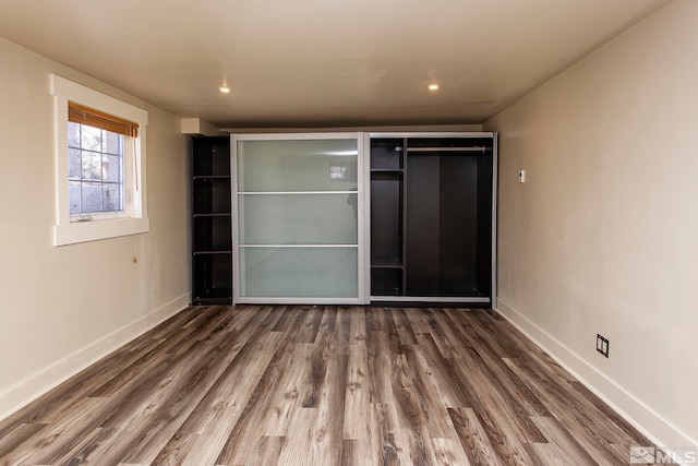
[[[4,39],[0,63],[1,419],[185,307],[190,265],[179,118]],[[148,110],[148,234],[51,246],[50,73]]]

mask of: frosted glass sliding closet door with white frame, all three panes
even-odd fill
[[[360,302],[359,139],[234,138],[236,302]]]

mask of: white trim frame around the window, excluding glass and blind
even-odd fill
[[[147,215],[145,140],[148,112],[97,91],[91,89],[56,74],[51,74],[50,93],[53,96],[53,144],[56,166],[56,225],[53,246],[74,244],[149,231]],[[124,154],[125,216],[100,218],[94,215],[89,222],[71,222],[68,184],[68,103],[84,105],[115,117],[139,123],[135,154],[129,148]],[[127,144],[130,146],[130,144]],[[135,160],[135,163],[133,163]],[[132,182],[137,180],[137,183]]]

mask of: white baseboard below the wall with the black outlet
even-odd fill
[[[696,440],[681,432],[627,390],[567,349],[501,297],[497,298],[497,312],[657,445],[698,449]]]

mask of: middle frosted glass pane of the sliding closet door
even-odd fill
[[[239,243],[357,244],[358,195],[239,194]]]

